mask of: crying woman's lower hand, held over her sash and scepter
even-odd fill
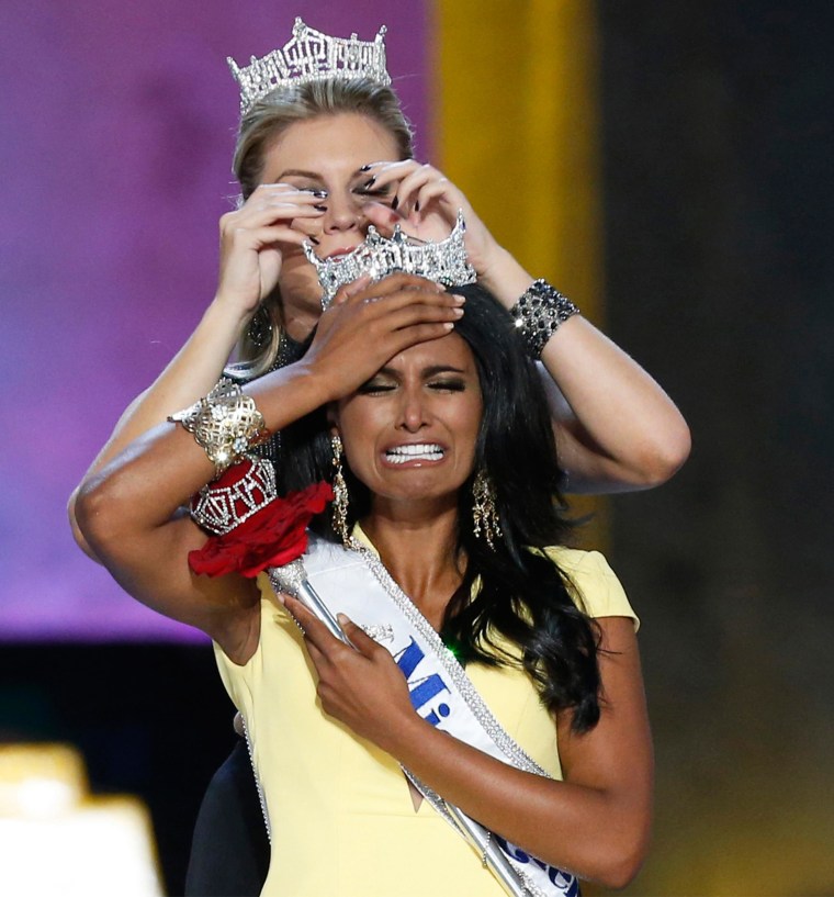
[[[341,614],[339,623],[356,650],[331,636],[296,598],[285,596],[284,606],[304,632],[325,713],[394,753],[397,733],[415,717],[405,676],[394,659]]]

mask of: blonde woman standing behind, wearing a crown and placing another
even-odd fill
[[[309,37],[331,40],[297,21],[294,32],[288,45],[293,45],[293,54],[296,37],[302,44]],[[246,74],[263,74],[259,66],[264,60],[269,57],[243,70],[234,158],[241,201],[221,221],[216,294],[170,366],[125,411],[82,484],[135,438],[208,392],[236,344],[243,365],[234,373],[244,380],[298,359],[322,309],[322,289],[302,251],[303,242],[309,240],[326,258],[354,251],[370,225],[386,234],[401,225],[417,238],[437,240],[448,234],[461,209],[470,260],[501,304],[516,310],[531,337],[531,352],[541,359],[539,370],[551,388],[552,428],[571,491],[642,489],[668,479],[689,449],[688,429],[674,404],[632,359],[573,314],[575,306],[534,281],[496,243],[454,184],[414,159],[410,126],[390,79],[380,77],[385,76],[384,66],[349,78],[308,81],[293,76],[274,89],[248,92]],[[240,80],[241,70],[235,69]],[[260,82],[273,85],[270,78]],[[362,299],[374,300],[404,285],[413,284],[393,280],[354,289]],[[425,294],[401,290],[399,301],[420,295]],[[448,296],[437,294],[430,302],[417,302],[409,319],[420,316],[424,326],[436,328],[453,319]],[[341,341],[346,356],[370,351],[372,362],[381,365],[385,358],[357,324],[360,319],[346,318],[343,330],[333,338]],[[257,450],[279,461],[279,437]],[[279,475],[281,467],[279,462]],[[76,494],[69,505],[74,534],[95,558],[76,522]],[[192,857],[189,893],[258,889],[260,870],[266,868],[266,851],[251,850],[252,840],[262,834],[259,820],[251,811],[245,826],[230,825],[239,816],[236,804],[253,803],[244,753],[241,747],[236,749],[236,775],[228,774],[229,766],[218,775],[226,797],[215,804],[215,793],[207,796],[195,844],[208,846]],[[216,811],[207,812],[213,806]],[[216,820],[223,820],[222,829]],[[250,864],[237,862],[249,853]],[[224,871],[230,871],[227,878]],[[255,884],[247,885],[245,877]]]

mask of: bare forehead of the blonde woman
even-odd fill
[[[264,180],[286,168],[353,171],[370,161],[399,156],[394,136],[379,122],[356,112],[318,115],[291,124],[264,154]]]

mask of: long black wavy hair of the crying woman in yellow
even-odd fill
[[[536,365],[527,357],[510,316],[482,287],[455,288],[466,296],[455,333],[475,358],[483,418],[475,468],[459,493],[458,549],[465,558],[463,582],[446,610],[441,637],[464,663],[518,666],[533,679],[544,706],[573,711],[584,732],[599,719],[598,628],[572,599],[582,596],[568,576],[536,549],[566,545],[572,524],[560,493],[562,471],[551,415]],[[282,486],[298,489],[333,480],[326,414],[319,410],[284,434]],[[485,471],[496,492],[501,537],[495,549],[473,532],[472,485]],[[345,464],[349,523],[371,509],[369,490]],[[338,541],[329,514],[314,528]],[[531,550],[532,549],[532,550]],[[476,578],[481,585],[473,590]]]

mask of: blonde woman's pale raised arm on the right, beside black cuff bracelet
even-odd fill
[[[533,278],[503,248],[466,197],[436,168],[412,159],[371,167],[375,187],[396,189],[397,211],[371,208],[379,226],[399,222],[422,239],[449,234],[458,210],[466,253],[480,281],[511,309]],[[581,303],[579,303],[581,304]],[[647,489],[689,456],[689,428],[661,386],[588,321],[570,318],[542,357],[554,403],[553,424],[571,492]]]

